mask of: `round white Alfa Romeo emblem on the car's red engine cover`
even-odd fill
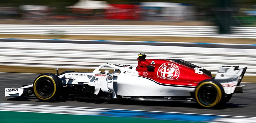
[[[178,79],[180,70],[179,67],[173,63],[164,63],[159,67],[157,76],[164,79]]]

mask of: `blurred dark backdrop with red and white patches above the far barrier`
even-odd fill
[[[157,21],[158,25],[221,26],[220,33],[229,33],[229,26],[256,26],[255,17],[255,0],[0,1],[1,24],[152,25]]]

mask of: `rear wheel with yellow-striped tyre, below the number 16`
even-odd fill
[[[222,104],[223,97],[223,87],[213,79],[200,82],[195,90],[197,103],[205,108],[216,107]]]

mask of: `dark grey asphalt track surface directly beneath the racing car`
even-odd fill
[[[213,115],[256,116],[256,84],[241,83],[244,93],[234,94],[230,102],[220,109],[201,109],[196,103],[146,102],[146,101],[115,101],[93,103],[91,101],[60,101],[55,103],[40,102],[36,98],[7,98],[4,97],[5,88],[19,88],[22,85],[32,84],[38,74],[0,73],[0,103],[35,104],[77,106],[90,108],[109,108],[127,110],[167,111],[183,113],[199,113]]]

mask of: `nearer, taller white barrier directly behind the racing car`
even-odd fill
[[[131,43],[132,44],[132,43]],[[74,43],[0,42],[0,65],[95,69],[103,63],[137,66],[137,54],[148,59],[184,59],[216,73],[220,66],[248,67],[256,76],[256,49]]]

